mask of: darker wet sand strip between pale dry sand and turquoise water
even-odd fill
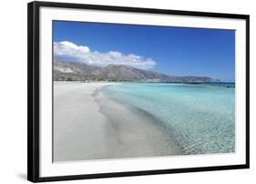
[[[108,123],[117,130],[118,139],[122,143],[119,147],[124,152],[118,152],[116,158],[177,156],[181,154],[181,150],[171,139],[169,131],[161,125],[158,118],[137,107],[120,103],[102,91],[97,93],[96,101],[100,105],[99,112],[105,115]],[[130,138],[132,136],[137,139]],[[139,148],[144,149],[139,150]]]

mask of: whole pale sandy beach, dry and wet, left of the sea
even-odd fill
[[[55,83],[54,161],[179,154],[157,119],[100,92],[108,85]]]

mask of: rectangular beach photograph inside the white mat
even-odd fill
[[[53,162],[232,154],[235,30],[53,21]]]

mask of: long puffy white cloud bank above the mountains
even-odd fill
[[[124,55],[118,51],[99,53],[91,51],[88,46],[77,46],[68,41],[54,42],[54,56],[57,59],[82,62],[96,66],[108,66],[109,64],[127,65],[141,69],[151,69],[156,62],[150,58],[133,54]]]

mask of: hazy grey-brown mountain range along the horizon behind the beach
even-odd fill
[[[91,66],[83,63],[54,61],[54,80],[138,81],[138,82],[219,82],[211,77],[175,77],[125,65]]]

